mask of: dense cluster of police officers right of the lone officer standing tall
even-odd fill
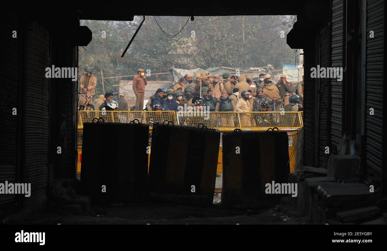
[[[149,98],[146,110],[279,112],[303,109],[303,81],[293,87],[285,75],[277,83],[271,81],[269,74],[260,74],[256,81],[250,75],[229,76],[229,73],[223,73],[222,78],[223,81],[208,71],[198,73],[195,79],[185,75],[170,88],[158,89]]]

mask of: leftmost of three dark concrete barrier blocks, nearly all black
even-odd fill
[[[81,188],[93,204],[144,199],[148,133],[144,124],[84,123]]]

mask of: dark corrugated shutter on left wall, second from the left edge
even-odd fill
[[[28,26],[26,44],[26,116],[24,183],[31,183],[31,197],[24,199],[26,209],[47,202],[50,79],[50,37],[45,27],[36,22]]]

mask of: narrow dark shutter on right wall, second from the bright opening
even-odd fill
[[[330,57],[329,28],[326,26],[320,31],[320,67],[329,67]],[[329,78],[319,78],[319,167],[327,168],[329,154],[325,154],[325,147],[329,146]]]

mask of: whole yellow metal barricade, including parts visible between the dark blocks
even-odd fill
[[[204,126],[219,129],[219,131],[233,131],[236,128],[248,131],[266,131],[268,128],[277,127],[288,132],[289,164],[290,171],[295,171],[296,160],[296,130],[303,127],[303,112],[174,112],[174,111],[78,111],[78,158],[77,178],[80,177],[80,164],[82,159],[83,123],[92,122],[94,118],[103,118],[105,122],[129,123],[138,119],[140,123],[151,124],[155,122],[172,121],[174,124],[184,126]],[[152,127],[149,127],[149,146],[151,146]],[[222,189],[222,136],[219,145],[217,163],[217,177],[215,191]],[[149,151],[150,156],[150,151]],[[149,158],[148,158],[149,168]],[[148,169],[149,170],[149,169]]]

